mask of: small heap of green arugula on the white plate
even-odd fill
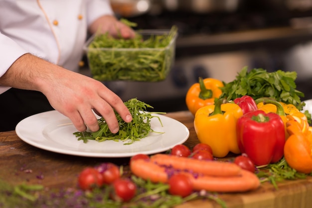
[[[98,120],[100,129],[96,132],[74,132],[78,140],[83,140],[87,142],[88,140],[96,140],[98,142],[103,142],[106,140],[114,141],[128,141],[125,144],[132,144],[135,141],[138,141],[146,137],[150,132],[155,132],[151,128],[151,119],[156,117],[158,118],[161,126],[161,120],[159,116],[153,114],[164,114],[165,112],[149,112],[146,111],[147,107],[153,108],[151,105],[141,102],[137,99],[131,99],[125,102],[125,105],[128,107],[129,111],[132,114],[132,121],[127,123],[121,116],[115,111],[115,115],[119,122],[119,132],[112,133],[103,117]],[[163,132],[156,132],[163,133]]]

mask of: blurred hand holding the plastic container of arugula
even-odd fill
[[[108,32],[113,37],[118,38],[121,35],[125,39],[134,38],[135,32],[128,25],[119,21],[112,15],[104,15],[96,19],[89,27],[89,31],[93,34],[96,32]]]

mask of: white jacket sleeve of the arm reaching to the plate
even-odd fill
[[[27,53],[17,43],[0,33],[0,77],[20,56]],[[0,94],[9,87],[0,86]]]

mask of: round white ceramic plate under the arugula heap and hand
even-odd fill
[[[140,141],[130,145],[125,142],[88,140],[83,143],[73,135],[77,129],[71,120],[56,110],[38,113],[21,120],[16,134],[26,143],[52,152],[86,157],[131,157],[133,155],[154,154],[166,151],[176,144],[183,143],[189,136],[189,130],[181,122],[157,114],[152,118],[151,127],[156,132],[150,133]]]

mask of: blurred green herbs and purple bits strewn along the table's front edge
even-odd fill
[[[137,185],[137,194],[127,203],[114,201],[111,198],[112,186],[105,185],[85,192],[73,188],[38,190],[35,200],[16,195],[12,204],[8,204],[7,195],[12,194],[12,192],[7,192],[3,196],[6,197],[6,201],[3,204],[0,201],[0,207],[16,208],[18,205],[18,208],[172,208],[191,200],[211,200],[220,205],[221,208],[227,208],[226,203],[216,193],[193,192],[191,195],[182,198],[168,194],[169,186],[167,184],[152,183],[133,175],[130,179]],[[13,187],[11,187],[12,189]]]

